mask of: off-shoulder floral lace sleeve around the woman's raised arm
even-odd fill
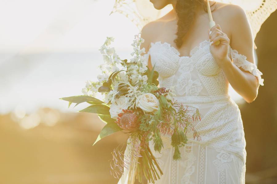
[[[238,53],[237,50],[231,48],[231,57],[236,66],[242,67],[243,70],[251,72],[251,74],[255,75],[259,79],[259,84],[263,86],[263,79],[261,75],[263,73],[259,71],[257,66],[254,63],[251,63],[246,60],[246,56]]]

